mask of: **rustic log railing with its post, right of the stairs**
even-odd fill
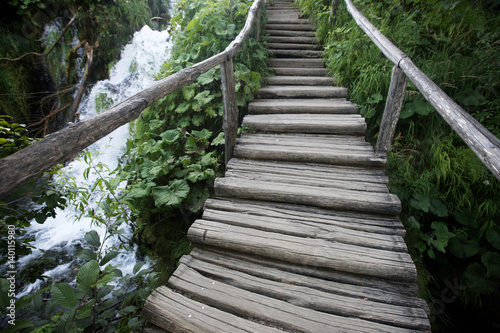
[[[336,7],[337,2],[338,0],[332,1],[332,8]],[[403,105],[407,78],[409,78],[484,165],[497,179],[500,179],[500,140],[446,95],[406,54],[371,24],[354,7],[351,0],[345,0],[345,2],[347,10],[358,26],[363,29],[382,53],[394,63],[388,98],[375,150],[381,154],[387,154],[390,149]]]

